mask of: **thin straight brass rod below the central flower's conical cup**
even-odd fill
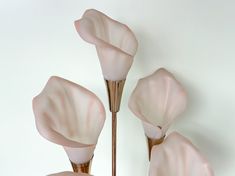
[[[116,176],[117,113],[112,112],[112,176]]]

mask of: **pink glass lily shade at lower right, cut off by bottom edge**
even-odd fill
[[[208,161],[193,144],[172,132],[152,149],[149,176],[213,176]]]

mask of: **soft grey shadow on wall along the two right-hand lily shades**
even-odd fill
[[[172,129],[178,129],[182,135],[191,139],[192,143],[197,146],[200,152],[207,158],[213,170],[216,172],[225,170],[232,161],[232,153],[229,145],[223,140],[223,134],[216,131],[215,126],[204,126],[203,123],[197,123],[197,119],[203,122],[202,116],[199,112],[203,111],[203,93],[193,86],[190,80],[186,80],[179,75],[175,75],[176,78],[182,83],[188,93],[188,107],[182,118],[179,118],[173,125]],[[195,119],[197,118],[197,119]],[[217,136],[216,134],[220,134]],[[215,137],[217,136],[217,137]],[[220,174],[220,173],[216,173]],[[221,173],[222,174],[222,173]]]

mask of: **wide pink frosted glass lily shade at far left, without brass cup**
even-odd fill
[[[39,133],[62,145],[72,162],[91,160],[105,121],[104,106],[95,94],[54,76],[33,99],[33,111]]]

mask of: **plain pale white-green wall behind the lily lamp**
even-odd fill
[[[107,97],[95,48],[73,21],[96,8],[129,25],[139,49],[126,82],[118,133],[118,175],[147,175],[140,122],[127,108],[136,81],[165,67],[188,91],[188,109],[171,130],[187,136],[216,175],[235,174],[235,1],[0,0],[0,175],[71,170],[60,146],[36,131],[31,100],[51,75]],[[110,113],[92,174],[111,175]]]

